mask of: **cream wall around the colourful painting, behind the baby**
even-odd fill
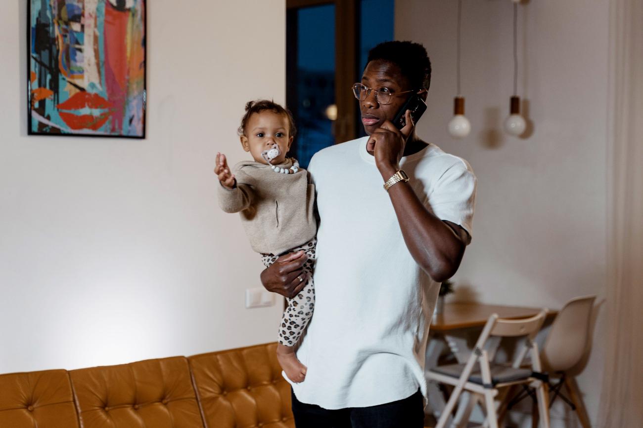
[[[246,158],[246,101],[285,101],[284,0],[149,1],[143,141],[26,135],[26,3],[0,13],[0,373],[275,341],[212,169]]]

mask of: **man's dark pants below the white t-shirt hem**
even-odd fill
[[[379,406],[327,410],[304,404],[293,396],[297,428],[422,428],[424,398],[418,390],[411,397]]]

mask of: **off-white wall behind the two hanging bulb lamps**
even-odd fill
[[[457,1],[397,0],[395,8],[396,39],[421,42],[433,62],[419,134],[469,160],[478,176],[473,243],[454,278],[457,298],[559,309],[574,296],[602,295],[608,4],[520,4],[518,93],[530,128],[516,138],[502,130],[513,88],[512,2],[462,3],[462,94],[473,130],[460,141],[446,132],[456,95]],[[578,379],[593,420],[602,312]],[[577,426],[558,404],[554,426]]]

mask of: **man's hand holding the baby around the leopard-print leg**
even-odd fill
[[[303,250],[282,255],[262,271],[261,283],[267,291],[292,298],[306,285],[308,275],[302,266],[307,260]]]

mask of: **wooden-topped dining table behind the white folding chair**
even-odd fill
[[[444,312],[436,314],[431,321],[429,343],[426,347],[425,370],[437,366],[438,358],[446,346],[449,347],[458,363],[464,364],[471,355],[469,348],[471,330],[482,329],[491,314],[498,314],[500,318],[529,318],[541,311],[538,307],[487,305],[478,303],[448,303],[444,305]],[[557,311],[548,311],[547,318],[556,316]],[[496,352],[500,338],[491,338],[491,349],[488,349],[491,358]],[[428,382],[429,406],[435,418],[439,418],[444,409],[444,398],[437,384]],[[476,401],[469,393],[463,393],[454,418],[449,418],[447,426],[464,427],[471,416]],[[453,425],[452,425],[453,424]]]

